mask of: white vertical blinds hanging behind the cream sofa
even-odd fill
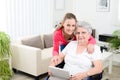
[[[12,40],[52,31],[53,0],[6,0],[6,8]]]

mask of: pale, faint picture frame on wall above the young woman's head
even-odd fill
[[[55,10],[64,10],[65,9],[65,0],[54,0]]]

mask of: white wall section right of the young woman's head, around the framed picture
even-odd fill
[[[97,35],[106,33],[111,34],[116,27],[118,17],[118,0],[110,0],[109,12],[97,12],[96,0],[74,0],[73,12],[78,20],[85,20],[92,24],[96,29]]]

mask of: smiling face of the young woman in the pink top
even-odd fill
[[[72,35],[75,31],[76,21],[75,19],[66,19],[63,23],[64,32],[68,35]]]

